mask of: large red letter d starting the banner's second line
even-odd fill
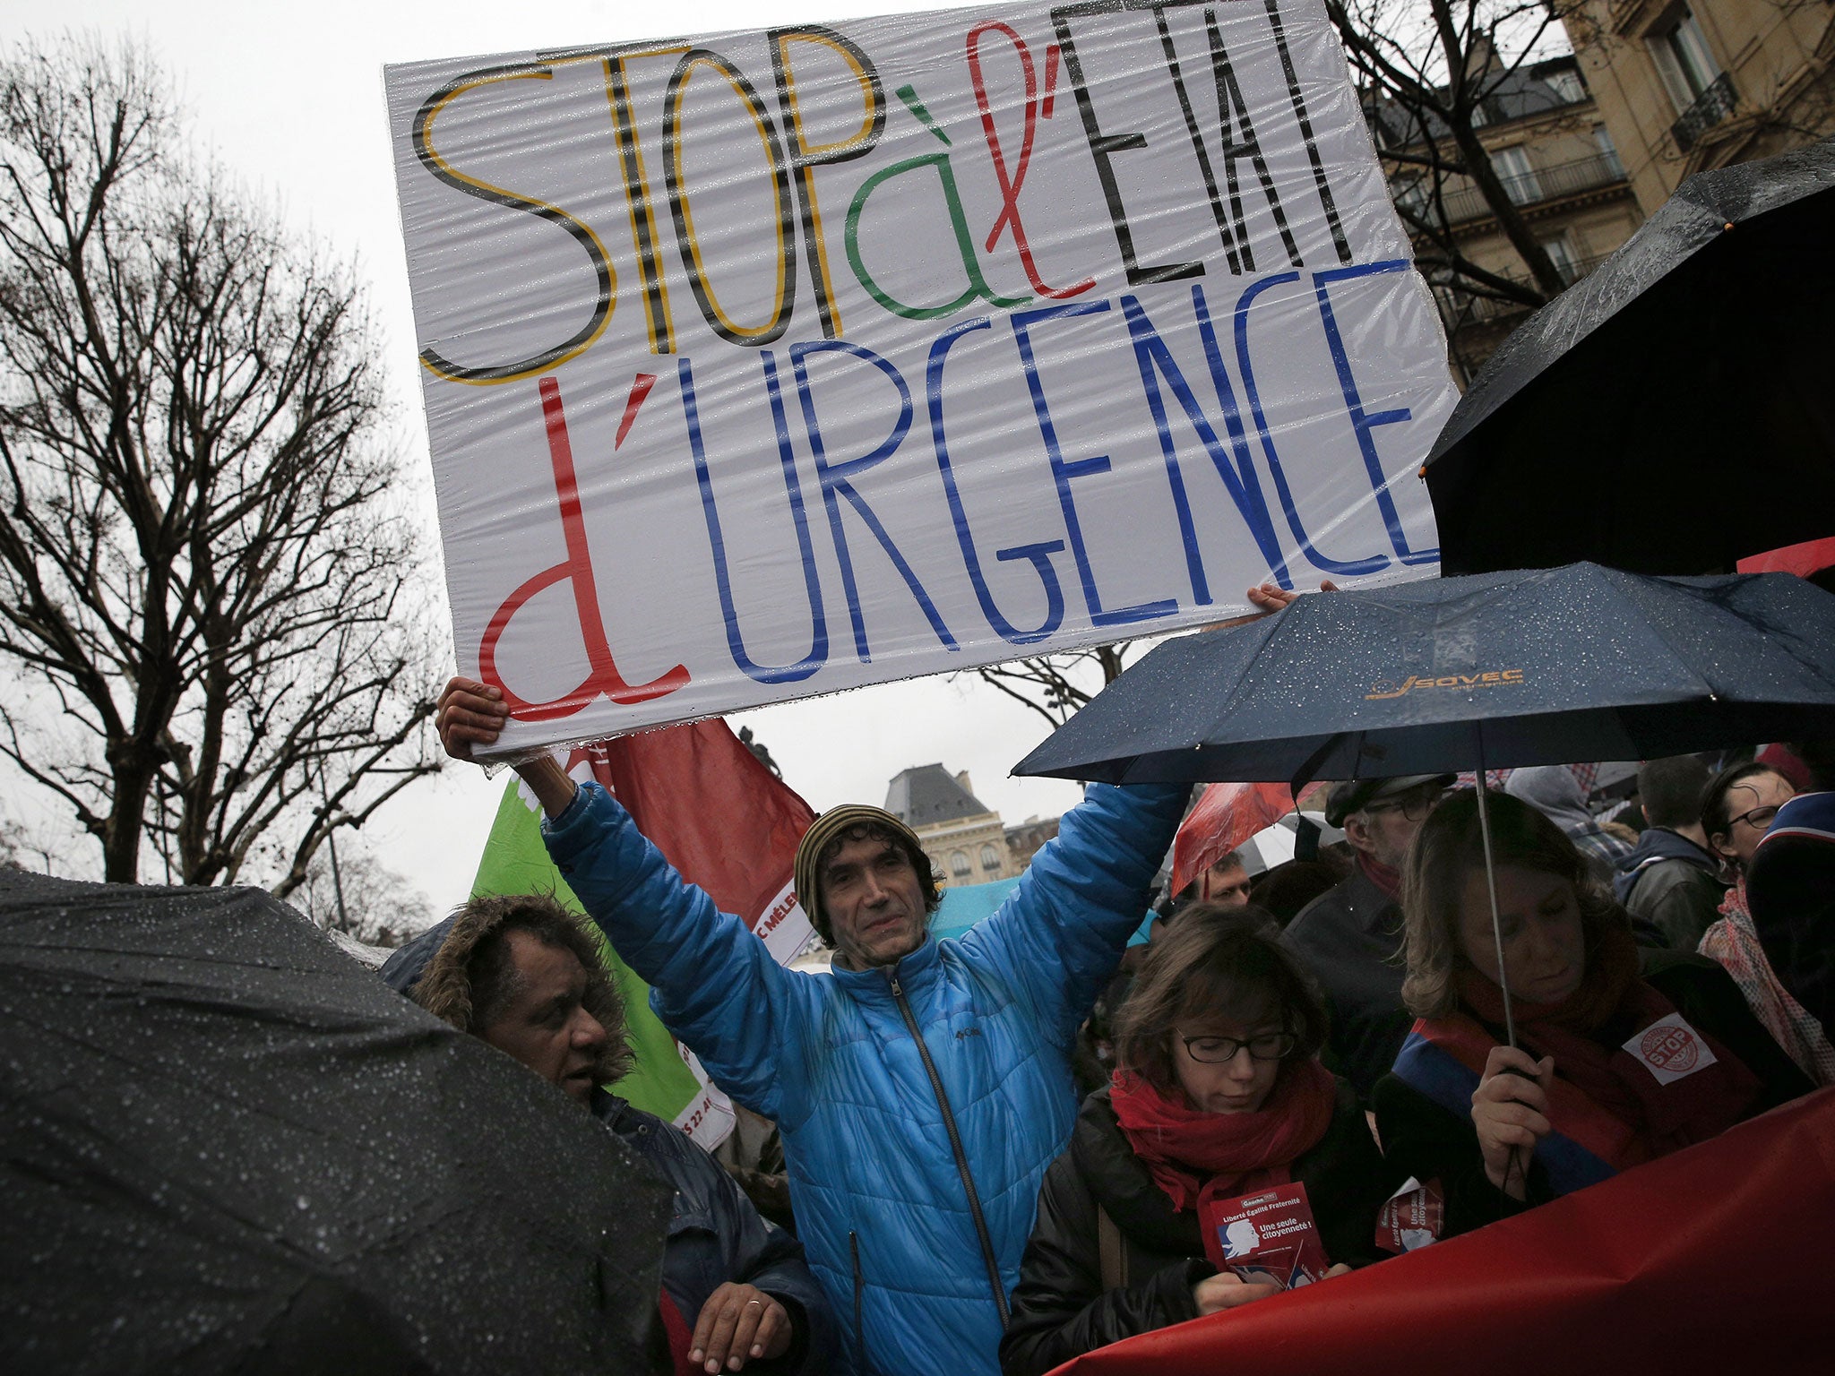
[[[651,697],[673,694],[688,682],[688,670],[677,664],[661,679],[644,684],[629,684],[618,675],[618,666],[611,659],[611,644],[606,640],[606,622],[598,615],[598,587],[593,582],[593,554],[585,543],[585,516],[580,510],[580,484],[574,479],[573,444],[567,440],[567,415],[562,411],[562,389],[554,378],[541,378],[541,418],[549,431],[549,461],[554,466],[554,499],[562,508],[562,532],[567,541],[567,558],[552,569],[543,569],[525,582],[490,618],[484,638],[477,646],[479,677],[503,694],[503,703],[517,721],[554,721],[571,717],[587,706],[595,697],[609,697],[613,703],[629,706],[648,703]],[[497,640],[510,626],[523,605],[543,589],[563,578],[573,580],[574,615],[580,618],[580,638],[585,644],[585,659],[591,670],[571,694],[549,699],[547,703],[528,703],[510,692],[510,686],[497,671]]]

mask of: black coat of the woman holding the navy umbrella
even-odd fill
[[[1719,965],[1686,952],[1646,950],[1644,980],[1675,1004],[1694,1027],[1732,1051],[1760,1081],[1760,1095],[1745,1117],[1756,1117],[1802,1093],[1811,1082],[1796,1062],[1771,1038],[1771,1033],[1752,1016],[1740,985]],[[1486,1027],[1503,1042],[1501,1027]],[[1620,1046],[1631,1029],[1609,1031],[1604,1046]],[[1556,1064],[1554,1073],[1562,1068]],[[1485,1174],[1485,1152],[1472,1115],[1455,1115],[1396,1075],[1385,1075],[1374,1095],[1376,1134],[1384,1156],[1402,1176],[1417,1180],[1439,1178],[1446,1193],[1446,1237],[1468,1233],[1474,1227],[1523,1213],[1554,1198],[1554,1189],[1540,1161],[1532,1161],[1527,1182],[1527,1200],[1518,1202],[1490,1183]]]

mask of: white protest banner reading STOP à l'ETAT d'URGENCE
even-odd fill
[[[1439,319],[1318,0],[387,70],[499,752],[1435,571]]]

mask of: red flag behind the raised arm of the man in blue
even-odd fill
[[[796,904],[796,842],[815,820],[732,728],[714,717],[584,745],[567,772],[593,778],[721,912],[734,912],[787,963],[811,928]],[[576,774],[578,776],[578,774]]]

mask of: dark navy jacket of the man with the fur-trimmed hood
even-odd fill
[[[804,1262],[802,1244],[765,1220],[738,1182],[688,1134],[604,1090],[593,1093],[593,1114],[675,1187],[662,1249],[662,1290],[688,1328],[706,1297],[727,1281],[752,1284],[784,1304],[795,1336],[782,1358],[747,1361],[745,1370],[767,1376],[828,1370],[835,1325]]]

